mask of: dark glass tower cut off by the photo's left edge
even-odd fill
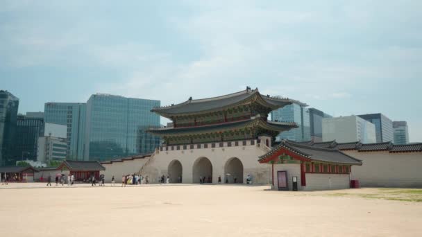
[[[19,98],[0,90],[0,166],[14,165],[14,141]]]

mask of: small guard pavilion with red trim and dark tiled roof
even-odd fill
[[[352,166],[362,165],[362,161],[338,149],[292,141],[281,141],[259,162],[271,165],[271,186],[280,191],[350,188]]]

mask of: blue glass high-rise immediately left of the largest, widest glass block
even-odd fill
[[[85,139],[85,103],[55,103],[44,105],[45,123],[67,126],[67,158],[83,160]]]

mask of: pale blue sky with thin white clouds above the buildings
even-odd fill
[[[422,141],[422,1],[0,1],[19,111],[97,92],[162,105],[258,87]]]

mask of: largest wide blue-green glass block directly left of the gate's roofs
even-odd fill
[[[160,100],[95,94],[87,102],[85,159],[107,160],[152,152],[160,138],[146,133],[160,128],[160,116],[151,109]]]

